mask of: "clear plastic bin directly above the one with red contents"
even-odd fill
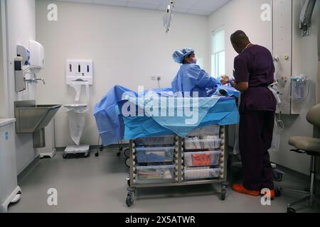
[[[201,150],[201,149],[219,149],[221,144],[221,139],[212,140],[193,140],[186,138],[184,140],[185,150]]]

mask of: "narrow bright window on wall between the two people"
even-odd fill
[[[213,31],[211,69],[213,77],[225,74],[225,28]]]

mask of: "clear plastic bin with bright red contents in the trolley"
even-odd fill
[[[220,155],[220,150],[184,153],[184,163],[186,167],[219,165]]]

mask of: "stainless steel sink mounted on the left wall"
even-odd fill
[[[61,105],[36,105],[35,100],[15,101],[16,133],[33,133],[33,148],[46,147],[44,128]]]

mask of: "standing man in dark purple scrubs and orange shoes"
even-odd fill
[[[243,31],[231,35],[238,56],[234,62],[235,80],[231,85],[240,91],[239,148],[244,178],[234,184],[236,192],[259,196],[270,189],[274,198],[272,166],[268,150],[272,143],[277,101],[268,89],[274,82],[272,54],[267,48],[253,45]]]

